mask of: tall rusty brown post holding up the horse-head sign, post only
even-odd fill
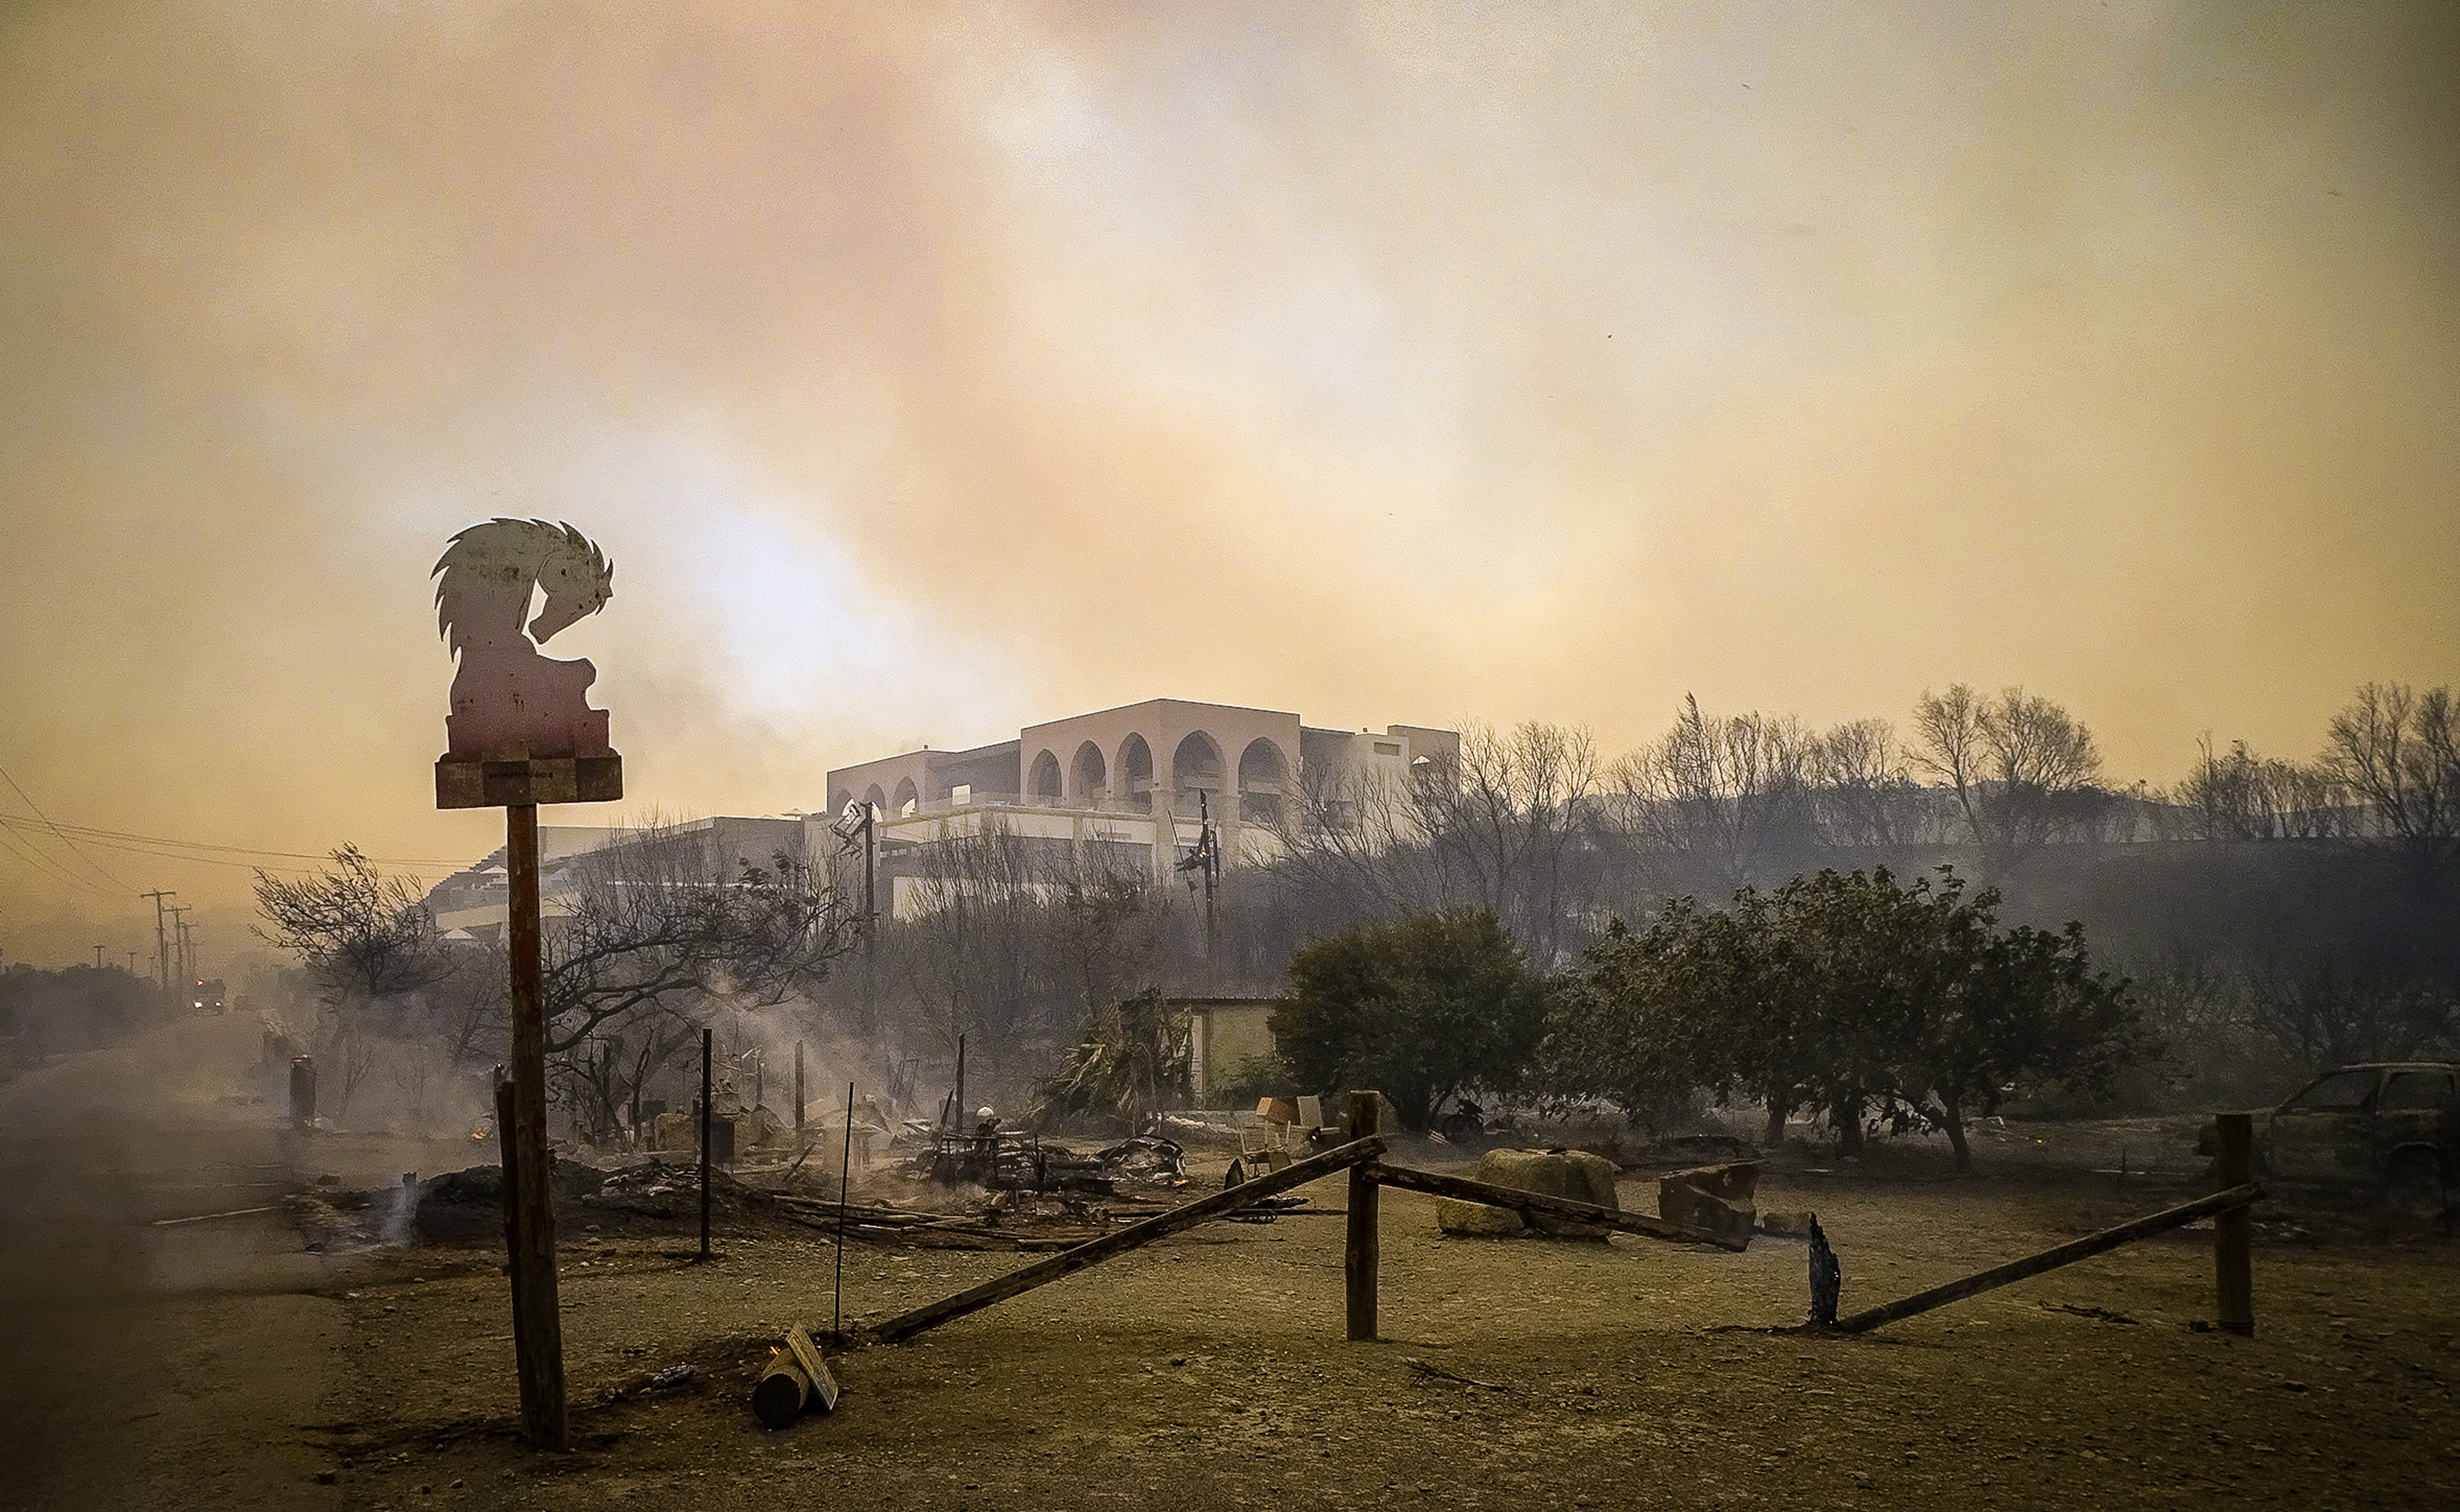
[[[512,1246],[512,1340],[522,1367],[522,1431],[531,1448],[568,1451],[563,1318],[556,1303],[556,1205],[546,1151],[546,993],[539,971],[539,806],[504,806],[512,905],[512,1178],[519,1244]]]

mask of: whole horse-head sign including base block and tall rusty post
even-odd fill
[[[622,757],[608,715],[590,708],[598,669],[539,647],[605,607],[615,568],[573,526],[494,519],[453,536],[435,563],[438,629],[453,647],[453,713],[435,762],[438,809],[504,809],[512,956],[512,1062],[497,1097],[504,1160],[504,1249],[512,1340],[522,1374],[522,1433],[531,1448],[571,1448],[563,1399],[563,1318],[556,1305],[556,1207],[546,1148],[546,993],[539,939],[539,804],[622,797]],[[536,620],[529,600],[546,590]]]

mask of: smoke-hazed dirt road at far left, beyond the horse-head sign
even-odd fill
[[[258,1028],[194,1018],[0,1087],[0,1507],[332,1507],[305,1428],[342,1305],[246,1084]],[[317,1495],[322,1492],[322,1495]]]

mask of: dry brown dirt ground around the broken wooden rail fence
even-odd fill
[[[1820,1215],[1852,1310],[2199,1192],[2189,1138],[2192,1121],[2010,1126],[1966,1178],[1924,1146],[1825,1168],[1796,1151],[1771,1163],[1759,1205]],[[1397,1158],[1442,1168],[1446,1156],[1459,1165],[1442,1146]],[[1223,1163],[1200,1173],[1218,1180]],[[69,1495],[59,1470],[79,1455],[184,1455],[194,1485],[258,1490],[226,1505],[389,1510],[2448,1507],[2460,1495],[2460,1244],[2364,1212],[2261,1210],[2251,1340],[2194,1328],[2212,1315],[2209,1232],[1813,1340],[1784,1333],[1808,1305],[1798,1239],[1747,1254],[1444,1239],[1432,1200],[1387,1190],[1383,1340],[1351,1345],[1346,1187],[1304,1192],[1314,1215],[1208,1224],[913,1345],[834,1355],[839,1409],[785,1431],[758,1426],[748,1392],[790,1323],[829,1325],[827,1237],[726,1234],[723,1259],[694,1266],[676,1237],[566,1224],[571,1455],[512,1436],[499,1251],[317,1256],[288,1281],[251,1271],[248,1301],[312,1318],[251,1323],[229,1286],[153,1296],[148,1315],[226,1342],[258,1330],[266,1360],[248,1369],[241,1355],[246,1379],[229,1392],[271,1404],[261,1431],[182,1421],[192,1406],[224,1411],[207,1396],[155,1394],[160,1416],[135,1421],[118,1399],[69,1414],[76,1423],[54,1414],[52,1470],[10,1505],[135,1505]],[[1653,1210],[1653,1178],[1621,1195]],[[854,1244],[846,1313],[886,1318],[1033,1259]],[[280,1360],[315,1369],[273,1379]],[[679,1362],[694,1364],[684,1387],[635,1389]]]

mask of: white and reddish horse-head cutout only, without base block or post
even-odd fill
[[[573,526],[492,519],[453,536],[435,563],[435,629],[453,647],[450,762],[539,762],[613,755],[590,708],[598,669],[539,647],[615,595],[615,565]],[[546,607],[524,629],[531,590]]]

